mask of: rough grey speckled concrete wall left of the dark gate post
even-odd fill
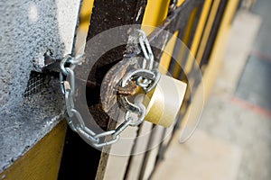
[[[55,58],[72,51],[79,4],[80,0],[0,1],[0,172],[60,118],[57,77],[49,77],[43,94],[34,94],[28,102],[23,93],[31,71],[44,67],[46,51]]]

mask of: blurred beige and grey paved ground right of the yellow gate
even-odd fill
[[[174,137],[153,179],[271,179],[270,7],[258,0],[253,14],[239,12],[199,129],[182,145]]]

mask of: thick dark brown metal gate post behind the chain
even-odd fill
[[[107,31],[113,27],[133,23],[140,24],[145,12],[145,4],[146,0],[95,0],[89,22],[87,40],[90,40],[99,32]],[[84,9],[86,8],[88,7],[84,7]],[[91,9],[89,9],[90,11]],[[127,37],[124,37],[124,40],[126,39]],[[87,87],[87,93],[89,93],[87,94],[87,98],[89,98],[88,103],[92,105],[91,111],[98,115],[103,113],[96,108],[98,107],[99,89],[103,76],[107,73],[108,68],[123,57],[125,50],[126,47],[122,46],[107,52],[105,56],[98,59],[96,69],[89,75],[89,84],[92,86],[90,88]],[[85,53],[88,54],[88,51]],[[114,61],[110,61],[110,59]],[[101,120],[98,123],[105,129],[107,129],[108,123],[108,129],[115,129],[116,126],[116,123],[113,123],[110,119],[107,119],[107,121]],[[107,154],[90,147],[77,133],[69,128],[66,134],[59,179],[103,179],[105,167],[107,166],[107,157]]]

